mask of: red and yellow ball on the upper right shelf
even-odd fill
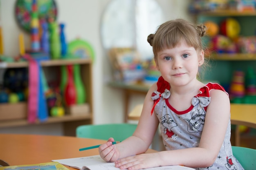
[[[220,33],[234,39],[240,33],[240,24],[234,18],[227,18],[220,23]]]

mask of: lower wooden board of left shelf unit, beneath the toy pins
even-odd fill
[[[60,123],[60,122],[67,122],[67,121],[81,121],[81,120],[90,120],[90,119],[92,119],[92,113],[88,113],[82,116],[65,115],[63,117],[49,117],[47,121],[40,122],[39,120],[36,120],[36,122],[33,124],[28,123],[27,119],[13,119],[13,120],[0,121],[0,128],[28,126],[28,125],[35,125],[35,124],[51,124],[51,123]]]

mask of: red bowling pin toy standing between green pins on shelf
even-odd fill
[[[73,68],[71,65],[67,66],[67,84],[65,86],[65,104],[71,106],[76,104],[76,88],[73,78]]]

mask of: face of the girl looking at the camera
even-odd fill
[[[171,86],[184,86],[196,79],[198,67],[204,62],[204,51],[197,52],[184,40],[172,49],[157,53],[157,68]]]

